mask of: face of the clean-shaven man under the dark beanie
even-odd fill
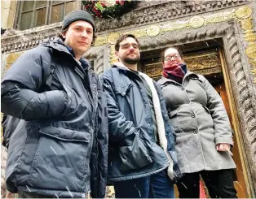
[[[83,54],[90,48],[93,39],[93,28],[86,21],[78,20],[69,25],[67,32],[64,32],[64,44],[69,45],[76,55],[82,58]]]

